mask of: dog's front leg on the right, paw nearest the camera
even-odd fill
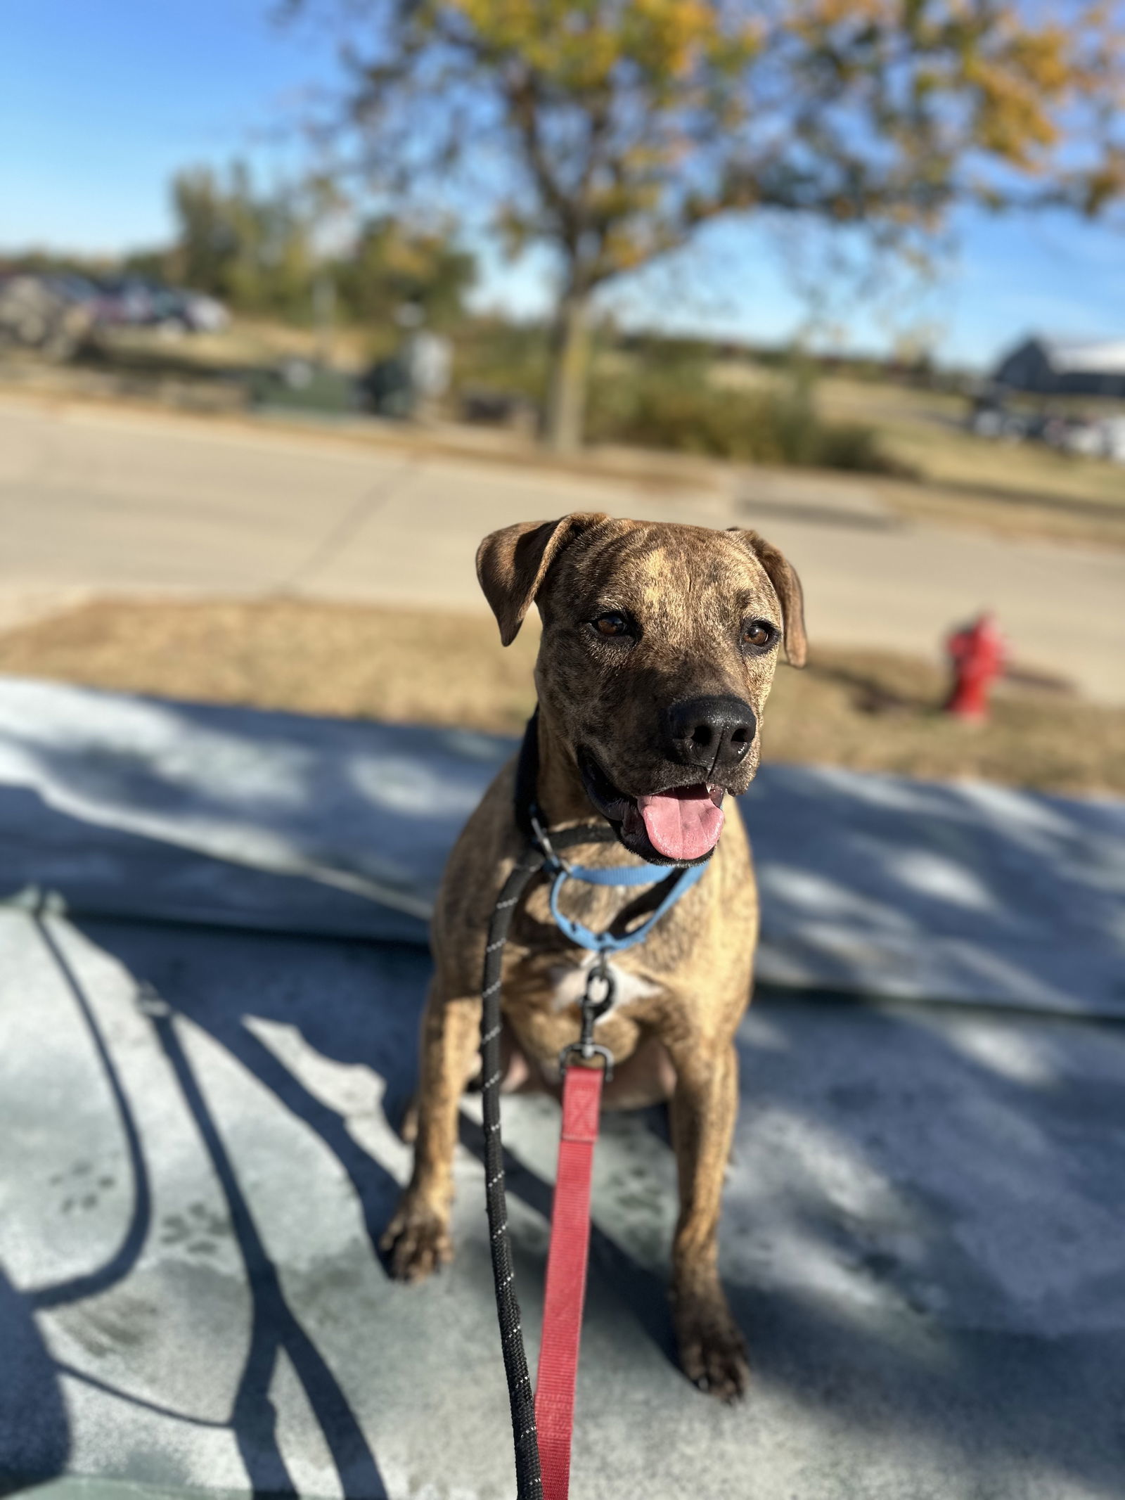
[[[702,1390],[732,1401],[748,1380],[746,1342],[718,1282],[718,1210],[738,1110],[732,1044],[675,1056],[672,1140],[680,1221],[672,1245],[672,1305],[680,1364]]]

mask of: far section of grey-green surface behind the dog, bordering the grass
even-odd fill
[[[424,944],[514,744],[0,678],[0,896]],[[1125,1018],[1125,804],[766,765],[759,976]]]

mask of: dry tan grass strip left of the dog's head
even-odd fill
[[[532,632],[303,600],[100,600],[0,634],[0,672],[212,704],[514,730]]]

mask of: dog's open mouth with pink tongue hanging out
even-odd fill
[[[718,843],[726,818],[722,786],[696,782],[628,796],[614,786],[590,752],[579,752],[579,768],[590,801],[618,825],[621,843],[642,860],[694,864],[706,860]]]

